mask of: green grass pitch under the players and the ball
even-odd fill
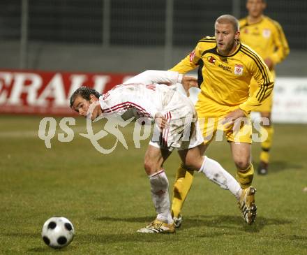
[[[307,126],[276,124],[269,175],[255,175],[257,220],[248,226],[229,191],[195,173],[183,210],[184,221],[172,235],[135,233],[155,217],[144,151],[128,143],[100,154],[87,138],[84,119],[76,118],[75,137],[60,143],[57,133],[46,149],[38,138],[42,117],[2,115],[0,120],[0,254],[307,254]],[[95,128],[98,129],[97,123]],[[107,136],[103,146],[115,139]],[[257,166],[259,144],[253,145]],[[226,142],[207,152],[234,175]],[[170,194],[179,156],[165,164]],[[40,237],[43,223],[67,217],[75,238],[54,250]]]

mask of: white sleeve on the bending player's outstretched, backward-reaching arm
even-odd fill
[[[126,80],[124,84],[129,83],[143,83],[145,85],[153,83],[167,83],[167,85],[175,85],[181,83],[182,74],[175,71],[157,71],[157,70],[147,70],[140,73],[129,80]]]

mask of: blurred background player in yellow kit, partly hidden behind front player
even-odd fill
[[[269,67],[272,75],[275,77],[274,67],[287,57],[287,54],[289,54],[289,46],[280,24],[263,15],[266,7],[267,4],[264,0],[246,1],[248,16],[239,21],[241,32],[240,40],[260,54]],[[253,94],[256,89],[257,82],[252,79],[250,82],[250,93]],[[255,111],[260,112],[261,117],[269,119],[269,124],[263,125],[260,131],[262,134],[267,133],[267,139],[262,141],[260,164],[257,168],[257,173],[260,175],[267,174],[269,150],[271,149],[274,133],[271,123],[272,99],[273,94],[271,94],[260,107],[255,108]]]

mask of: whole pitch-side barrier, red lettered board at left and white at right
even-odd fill
[[[68,99],[77,87],[93,87],[104,94],[134,73],[0,70],[0,114],[73,116]],[[184,90],[178,86],[178,90]],[[190,89],[197,100],[199,89]],[[307,123],[307,77],[279,77],[274,87],[274,122]],[[252,118],[257,118],[253,113]]]

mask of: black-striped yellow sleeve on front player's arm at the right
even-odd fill
[[[239,105],[239,108],[244,110],[246,114],[249,114],[257,106],[262,105],[274,87],[274,79],[269,68],[255,52],[253,53],[252,61],[248,64],[248,71],[250,71],[253,78],[257,81],[258,88],[252,96],[248,97],[247,101]]]

